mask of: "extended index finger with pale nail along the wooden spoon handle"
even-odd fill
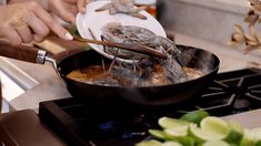
[[[60,25],[54,19],[43,9],[34,10],[38,18],[40,18],[58,36],[64,40],[72,40],[69,31]]]

